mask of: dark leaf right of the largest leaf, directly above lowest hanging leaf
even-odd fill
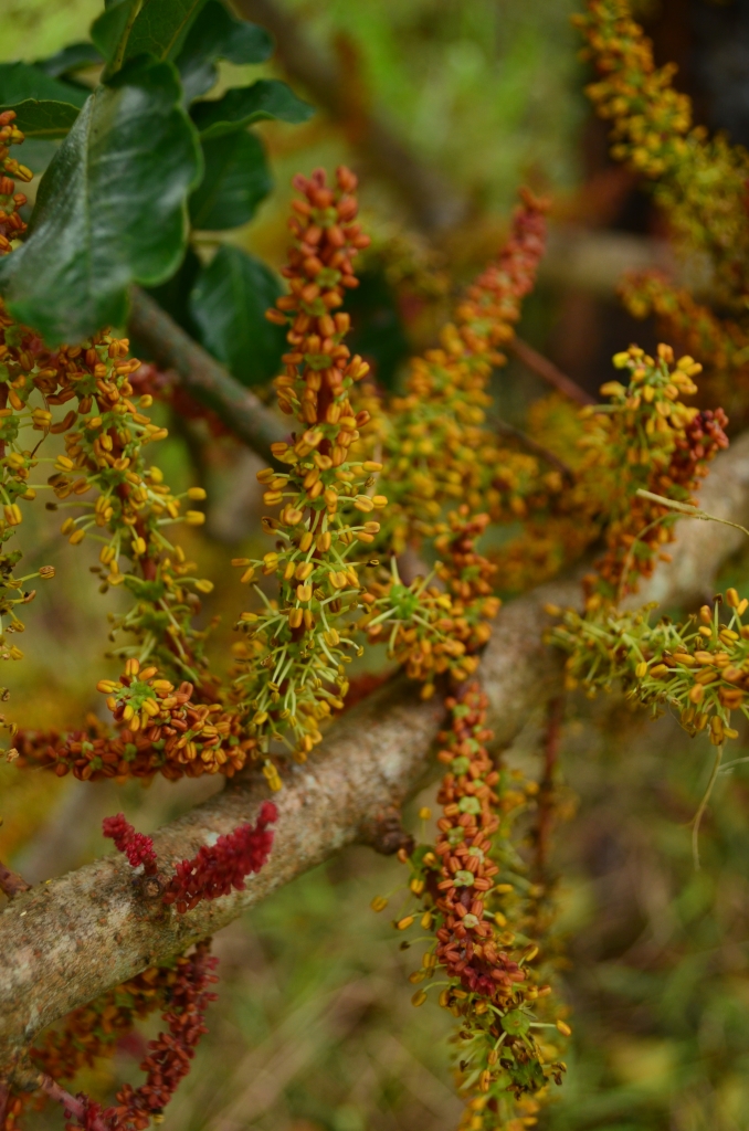
[[[261,143],[238,132],[203,143],[205,174],[190,197],[193,227],[221,232],[252,219],[273,188]]]

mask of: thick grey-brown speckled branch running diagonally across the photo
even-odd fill
[[[749,433],[715,460],[701,492],[705,510],[749,521]],[[700,603],[721,561],[742,535],[731,527],[685,519],[673,562],[656,571],[638,602]],[[561,689],[562,661],[548,648],[548,603],[580,602],[576,579],[556,581],[503,608],[481,663],[490,698],[489,725],[508,743],[533,713]],[[339,852],[369,841],[390,806],[425,778],[440,727],[438,700],[422,701],[398,679],[332,728],[319,753],[291,767],[275,796],[278,822],[270,858],[242,892],[204,901],[186,915],[147,906],[121,856],[103,857],[17,896],[0,915],[0,1077],[23,1071],[35,1034],[69,1010],[134,977],[191,942],[225,926],[294,877]],[[267,787],[259,776],[230,785],[154,836],[161,861],[195,855],[216,834],[252,821]]]

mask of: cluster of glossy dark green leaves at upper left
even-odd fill
[[[136,283],[241,381],[273,375],[283,335],[264,313],[279,280],[219,238],[213,258],[190,247],[195,230],[248,223],[270,191],[250,127],[313,112],[275,79],[204,97],[222,60],[259,63],[272,51],[265,28],[221,0],[107,0],[91,42],[0,64],[0,109],[53,152],[26,241],[0,261],[14,317],[49,345],[83,340],[124,323]]]

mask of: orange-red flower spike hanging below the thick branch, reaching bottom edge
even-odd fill
[[[535,965],[543,956],[526,931],[539,892],[511,839],[515,820],[535,805],[537,786],[489,756],[487,697],[476,683],[447,707],[449,727],[437,756],[446,767],[438,837],[411,856],[401,849],[415,908],[406,905],[394,926],[405,932],[419,924],[433,938],[408,981],[419,986],[414,1005],[441,987],[439,1004],[458,1020],[457,1082],[467,1097],[462,1126],[514,1131],[535,1122],[550,1081],[561,1082],[565,1064],[544,1030],[557,1039],[570,1033],[558,1015],[552,1020],[551,986]],[[381,896],[372,903],[374,910],[386,906]]]

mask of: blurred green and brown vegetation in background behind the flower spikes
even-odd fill
[[[382,383],[397,383],[407,353],[433,339],[446,296],[497,245],[523,182],[549,191],[554,205],[548,261],[520,335],[589,390],[608,379],[615,349],[635,338],[652,345],[653,328],[628,319],[614,286],[626,267],[668,257],[665,233],[647,197],[608,159],[605,130],[583,95],[572,0],[283,3],[308,54],[338,76],[338,104],[302,127],[259,128],[276,190],[230,239],[279,266],[291,175],[343,159],[367,166],[364,219],[376,240],[356,334]],[[0,59],[32,60],[84,38],[98,9],[97,0],[0,0]],[[658,61],[679,62],[700,120],[749,140],[747,0],[647,0],[638,15]],[[279,46],[283,58],[283,40]],[[316,102],[286,63],[284,71],[276,58],[265,70],[285,75]],[[236,71],[224,66],[223,83],[239,81]],[[372,113],[441,179],[447,219],[420,210],[372,155],[368,165],[358,129]],[[523,426],[546,391],[513,361],[497,381],[498,408]],[[169,482],[209,491],[206,527],[187,532],[186,546],[203,576],[225,577],[227,549],[260,549],[259,464],[203,423],[160,411],[171,431],[158,456]],[[114,674],[102,655],[117,594],[97,598],[86,544],[55,538],[57,526],[44,513],[24,526],[32,567],[51,562],[58,578],[38,595],[26,659],[14,665],[9,684],[15,717],[38,727],[72,725],[96,710],[92,689]],[[746,586],[749,558],[731,562],[723,581]],[[222,618],[213,648],[225,654],[235,593],[218,585],[207,606],[207,615]],[[543,1126],[749,1128],[747,767],[718,784],[704,823],[703,871],[695,873],[687,824],[707,776],[706,748],[669,717],[652,725],[615,698],[571,697],[566,711],[566,822],[554,866],[563,875],[559,927],[568,940],[563,979],[575,1039],[568,1079]],[[536,774],[541,726],[531,719],[507,756]],[[124,809],[147,831],[219,787],[214,779],[91,786],[2,766],[0,856],[43,880],[106,851],[97,831],[105,813]],[[407,821],[432,796],[425,788]],[[397,914],[397,890],[388,912],[369,909],[376,893],[403,882],[401,871],[393,860],[350,849],[216,939],[222,979],[210,1037],[166,1112],[166,1131],[456,1125],[462,1105],[448,1070],[449,1018],[431,1004],[410,1004],[408,953],[386,918]],[[106,1097],[115,1080],[135,1078],[149,1035],[124,1043],[113,1064],[79,1086]],[[33,1119],[40,1129],[60,1122],[57,1111]]]

